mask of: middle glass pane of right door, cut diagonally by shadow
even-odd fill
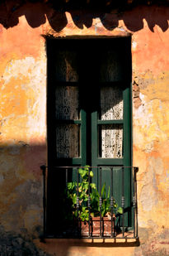
[[[101,120],[123,119],[123,91],[115,87],[101,88]]]

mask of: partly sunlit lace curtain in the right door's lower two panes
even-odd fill
[[[101,88],[101,120],[123,119],[123,94],[118,87]],[[101,157],[123,157],[123,126],[101,126]]]

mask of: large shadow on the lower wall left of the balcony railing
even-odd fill
[[[43,225],[40,165],[46,161],[46,146],[18,142],[1,146],[0,152],[0,225],[18,234],[24,229],[38,237]]]

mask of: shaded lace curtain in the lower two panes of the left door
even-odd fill
[[[57,86],[55,96],[57,120],[79,119],[79,93],[77,86]],[[57,157],[79,157],[80,127],[77,124],[59,124],[56,127]]]

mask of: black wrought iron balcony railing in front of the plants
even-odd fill
[[[43,171],[44,183],[45,237],[88,239],[138,238],[136,180],[138,167],[42,166],[40,169]],[[85,180],[86,197],[82,198],[83,171],[87,175]],[[56,177],[55,187],[57,186],[58,188],[56,190],[57,195],[53,194],[53,204],[56,203],[57,198],[59,198],[59,203],[54,208],[57,214],[53,213],[55,217],[51,218],[52,209],[49,209],[52,208],[51,192],[49,191],[52,191],[52,188],[50,187],[49,189],[48,186],[51,186],[50,181]],[[60,199],[61,197],[62,200]],[[48,203],[49,198],[50,204]],[[82,205],[83,203],[86,206]],[[97,218],[94,217],[92,212],[94,203],[98,210]],[[107,210],[107,214],[104,217],[103,208],[106,206],[105,213]],[[82,207],[85,207],[85,216],[82,216]],[[59,210],[61,211],[60,214]],[[61,215],[62,220],[60,220]],[[57,221],[59,229],[57,228]],[[52,226],[56,229],[55,231],[54,229],[52,231],[49,229],[49,223],[50,226],[52,223]],[[60,228],[61,223],[63,223],[63,229]]]

